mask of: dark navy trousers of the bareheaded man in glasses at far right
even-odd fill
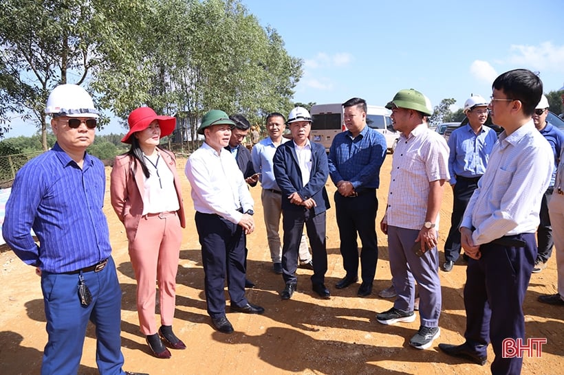
[[[525,342],[522,306],[536,259],[534,234],[508,237],[524,240],[525,247],[504,247],[491,242],[481,245],[481,258],[468,260],[464,286],[464,337],[481,356],[486,355],[491,340],[495,353],[492,374],[521,373],[523,359],[502,358],[501,343],[506,338]]]

